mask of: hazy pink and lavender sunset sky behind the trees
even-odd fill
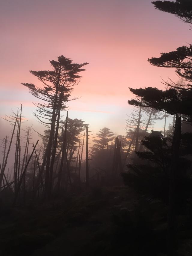
[[[37,100],[21,85],[38,84],[29,70],[50,70],[49,60],[60,55],[88,62],[71,96],[79,99],[68,103],[69,117],[94,132],[108,127],[125,134],[128,87],[164,88],[161,77],[179,79],[174,69],[153,67],[147,59],[191,41],[189,26],[155,10],[150,0],[1,0],[0,32],[0,115],[22,103],[28,125],[38,131],[44,127],[32,116]],[[7,123],[1,119],[0,125],[3,137]]]

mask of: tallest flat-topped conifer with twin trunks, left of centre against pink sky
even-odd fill
[[[88,63],[76,64],[71,59],[59,56],[58,60],[51,60],[52,71],[30,71],[41,81],[42,86],[22,83],[29,88],[29,91],[36,98],[43,100],[43,103],[35,104],[37,109],[34,115],[39,122],[47,125],[50,129],[49,139],[41,165],[40,176],[45,172],[45,191],[50,196],[52,189],[52,174],[57,150],[58,129],[61,110],[66,108],[70,92],[73,86],[79,83],[79,72],[85,71],[83,66]],[[40,178],[39,176],[39,178]],[[39,179],[38,179],[39,182]]]

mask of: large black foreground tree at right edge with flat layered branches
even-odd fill
[[[191,10],[192,6],[190,1],[155,1],[152,2],[156,8],[162,11],[176,14],[180,19],[185,22],[191,23]],[[148,61],[158,67],[176,68],[176,73],[183,79],[192,81],[192,51],[191,45],[189,47],[183,46],[169,53],[161,53],[159,58],[151,58]],[[166,82],[167,86],[174,87],[175,89],[167,89],[165,91],[158,90],[157,88],[144,89],[131,89],[131,91],[142,97],[145,101],[145,106],[154,107],[156,110],[163,110],[170,114],[176,114],[175,131],[173,134],[172,146],[172,165],[170,171],[170,191],[169,191],[169,214],[168,214],[168,255],[173,256],[176,253],[175,241],[175,186],[176,186],[176,170],[178,170],[180,136],[181,136],[181,117],[178,114],[190,116],[191,112],[191,85],[187,84],[178,86],[178,84],[171,81]],[[144,98],[143,98],[144,96]],[[137,103],[136,103],[137,102]],[[140,106],[140,102],[132,99],[129,104]]]

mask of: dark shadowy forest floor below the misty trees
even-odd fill
[[[0,254],[166,255],[166,211],[162,202],[124,186],[93,188],[49,204],[2,207]],[[192,255],[190,239],[183,247],[180,255]]]

